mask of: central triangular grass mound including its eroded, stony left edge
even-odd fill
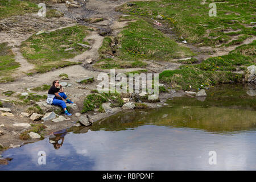
[[[134,68],[145,67],[143,59],[170,61],[183,56],[195,55],[189,48],[180,46],[174,40],[152,26],[152,22],[127,16],[130,22],[116,38],[105,37],[99,53],[105,64],[100,68]],[[111,46],[118,42],[121,46]],[[110,58],[113,56],[114,58]],[[107,58],[108,57],[108,58]]]

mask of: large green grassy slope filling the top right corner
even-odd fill
[[[255,22],[256,4],[254,1],[216,2],[216,17],[208,15],[210,10],[208,6],[212,1],[206,1],[205,5],[201,5],[201,2],[201,0],[134,2],[136,5],[131,7],[124,5],[121,11],[139,15],[141,18],[156,19],[156,16],[160,14],[163,16],[163,20],[159,20],[159,22],[168,23],[174,27],[176,34],[183,36],[187,42],[202,43],[202,46],[225,44],[234,35],[256,35],[255,27],[246,27],[246,24],[250,25],[250,22]],[[238,31],[224,32],[231,28]]]

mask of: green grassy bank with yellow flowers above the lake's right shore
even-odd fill
[[[256,40],[237,47],[228,55],[210,57],[197,65],[182,65],[181,69],[174,71],[163,71],[159,74],[159,81],[184,90],[189,90],[189,85],[192,89],[198,89],[209,85],[242,82],[243,74],[231,71],[244,71],[249,65],[256,65],[255,45]]]

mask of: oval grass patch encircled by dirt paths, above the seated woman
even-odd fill
[[[73,58],[86,51],[88,47],[82,47],[78,43],[87,44],[84,41],[88,35],[85,26],[73,26],[53,32],[32,35],[22,42],[20,51],[29,63],[35,64],[36,71],[44,73],[69,65],[81,64],[64,59]],[[68,48],[72,48],[67,51]]]

